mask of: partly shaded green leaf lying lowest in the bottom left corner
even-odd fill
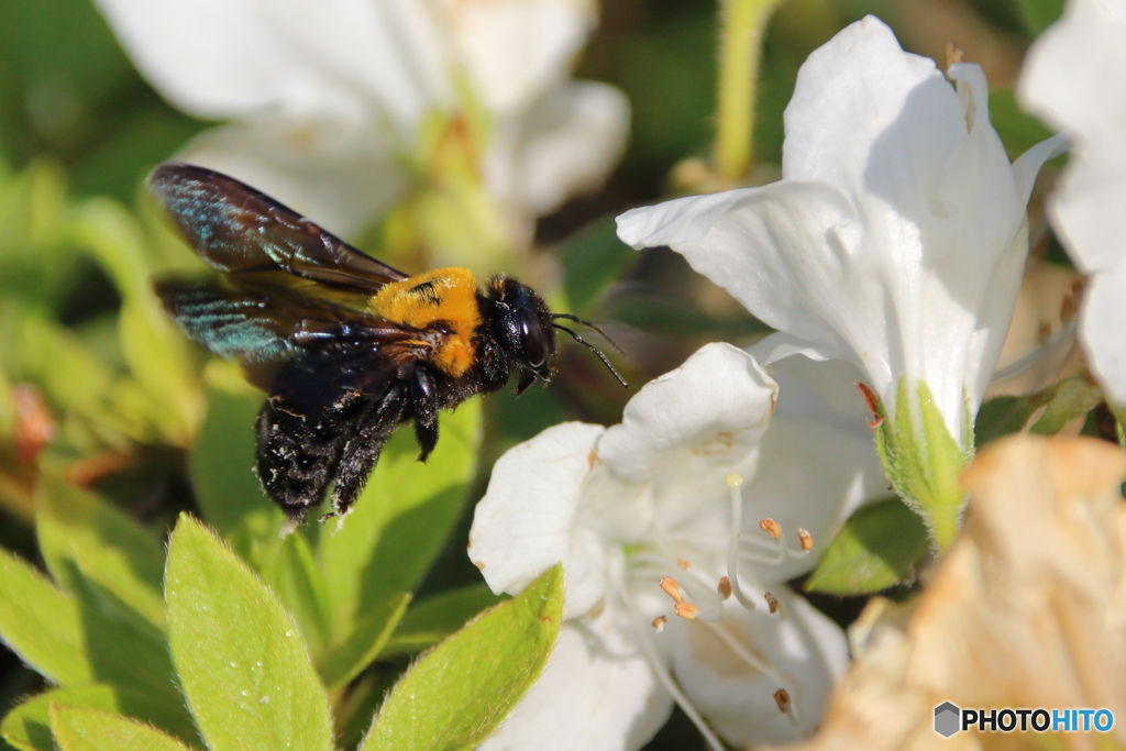
[[[175,716],[159,712],[154,714],[152,699],[144,691],[105,683],[57,688],[34,696],[8,713],[0,724],[0,734],[18,749],[55,751],[47,719],[47,710],[52,704],[127,715],[161,727],[188,744],[200,745],[195,726],[182,707]]]

